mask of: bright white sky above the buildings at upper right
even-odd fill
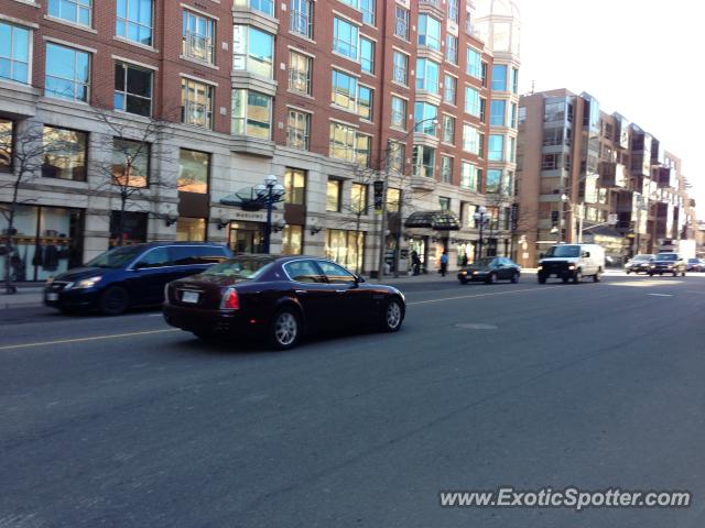
[[[705,220],[705,2],[513,0],[521,94],[567,88],[597,98],[682,160]]]

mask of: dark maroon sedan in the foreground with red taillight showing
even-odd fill
[[[279,350],[305,333],[377,327],[404,320],[397,288],[366,284],[321,257],[238,255],[166,287],[164,318],[202,339],[265,337]]]

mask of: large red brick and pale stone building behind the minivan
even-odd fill
[[[519,18],[509,1],[478,6],[0,0],[0,185],[31,168],[14,278],[120,242],[261,252],[252,193],[271,174],[285,188],[273,253],[376,271],[379,179],[390,266],[410,250],[430,268],[443,250],[473,257],[479,206],[488,253],[509,253]],[[0,188],[1,237],[12,201]]]

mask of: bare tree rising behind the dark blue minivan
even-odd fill
[[[154,200],[154,189],[176,186],[176,182],[164,176],[163,167],[171,160],[153,148],[169,136],[170,129],[165,121],[135,122],[109,110],[97,111],[96,119],[105,133],[99,144],[94,145],[101,155],[93,167],[89,194],[119,200],[116,230],[118,245],[122,245],[127,215],[134,210],[151,212],[144,202]],[[154,165],[159,167],[156,170]]]

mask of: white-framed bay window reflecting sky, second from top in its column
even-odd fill
[[[232,26],[232,69],[271,79],[274,64],[274,35],[251,25]]]

